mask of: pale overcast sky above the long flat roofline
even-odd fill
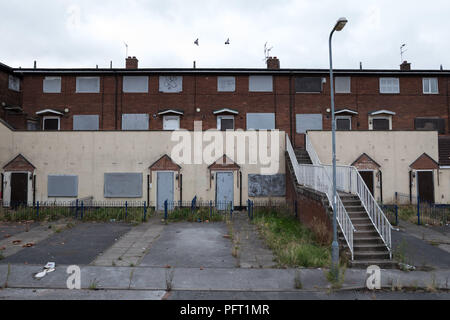
[[[264,44],[282,68],[450,69],[448,0],[0,0],[0,62],[12,67],[264,68]],[[199,38],[199,46],[194,40]],[[225,45],[226,39],[230,44]]]

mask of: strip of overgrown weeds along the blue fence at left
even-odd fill
[[[153,214],[152,208],[147,208],[146,219]],[[56,221],[62,218],[77,218],[82,221],[126,221],[141,223],[144,220],[143,207],[85,207],[83,210],[75,207],[18,207],[0,208],[0,221]]]

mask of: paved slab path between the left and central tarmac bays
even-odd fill
[[[104,253],[100,254],[91,265],[95,266],[137,266],[153,243],[161,235],[165,225],[159,217],[152,217],[148,222],[134,227],[123,235]]]

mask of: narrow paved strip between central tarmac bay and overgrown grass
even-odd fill
[[[246,212],[233,214],[233,246],[240,268],[273,268],[275,257]]]

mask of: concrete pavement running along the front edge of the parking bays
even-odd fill
[[[195,291],[298,291],[330,290],[323,269],[240,269],[240,268],[152,268],[81,266],[81,288],[114,290],[195,290]],[[7,288],[66,289],[67,266],[36,280],[42,266],[0,265],[0,286]],[[347,269],[341,289],[365,289],[366,270]],[[299,284],[301,284],[299,286]],[[448,290],[450,270],[402,272],[381,270],[385,289]]]

